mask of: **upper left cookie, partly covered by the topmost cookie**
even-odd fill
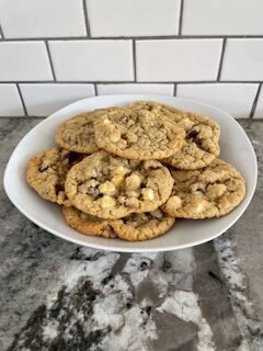
[[[57,129],[56,143],[66,150],[93,154],[99,150],[94,139],[93,123],[103,114],[118,107],[100,109],[76,115]]]

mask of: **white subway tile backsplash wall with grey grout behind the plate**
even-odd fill
[[[155,93],[263,118],[262,0],[0,0],[0,116]]]

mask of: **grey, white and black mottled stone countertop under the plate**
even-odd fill
[[[0,176],[41,120],[0,120]],[[244,215],[205,245],[115,253],[38,228],[0,185],[0,350],[263,350],[263,122],[240,122],[259,183]]]

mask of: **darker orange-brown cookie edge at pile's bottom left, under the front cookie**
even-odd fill
[[[72,206],[64,206],[64,217],[66,223],[73,229],[85,235],[102,236],[104,238],[115,238],[116,235],[111,227],[108,219],[102,219],[88,215]]]

